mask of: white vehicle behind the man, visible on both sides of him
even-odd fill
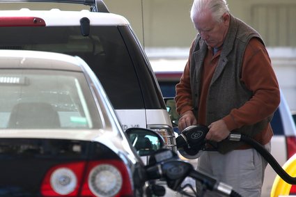
[[[169,64],[169,66],[162,67],[159,64],[153,64],[152,62],[151,65],[155,72],[155,76],[157,77],[160,89],[162,90],[162,95],[166,100],[167,109],[169,110],[171,121],[175,127],[174,129],[176,132],[180,132],[177,127],[179,116],[178,113],[176,113],[176,106],[173,97],[176,95],[176,84],[180,81],[185,64]],[[279,104],[279,108],[274,113],[271,125],[274,132],[274,136],[271,141],[271,154],[280,165],[283,165],[296,153],[296,129],[290,109],[282,92],[281,103]],[[196,165],[196,159],[190,162]],[[270,164],[268,164],[265,170],[262,196],[270,196],[270,191],[275,177],[276,173]],[[291,194],[296,194],[296,187],[292,187],[290,192]]]

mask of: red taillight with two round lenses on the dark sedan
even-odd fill
[[[60,164],[47,171],[42,196],[132,196],[123,161],[100,160]]]

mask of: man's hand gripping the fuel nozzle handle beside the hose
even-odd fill
[[[219,142],[226,139],[230,133],[224,120],[218,120],[209,125],[209,132],[205,139]]]

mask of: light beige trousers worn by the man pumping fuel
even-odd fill
[[[265,145],[270,152],[270,143]],[[267,161],[253,148],[233,150],[222,155],[216,151],[203,151],[198,158],[197,171],[202,171],[219,182],[224,182],[241,196],[260,197]],[[201,194],[201,184],[196,182]],[[217,192],[205,191],[204,196],[219,196]]]

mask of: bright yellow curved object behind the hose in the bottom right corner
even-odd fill
[[[285,164],[283,164],[283,170],[286,171],[290,176],[296,176],[296,154],[290,157]],[[272,184],[272,191],[270,192],[270,197],[278,196],[288,196],[290,194],[290,189],[292,184],[288,184],[282,180],[279,175],[276,175],[274,179],[274,184]]]

